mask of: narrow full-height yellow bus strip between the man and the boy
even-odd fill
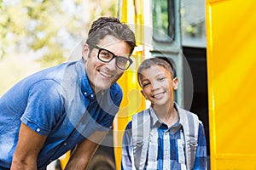
[[[131,121],[131,116],[145,109],[145,99],[140,93],[141,88],[137,83],[137,68],[143,60],[143,0],[123,0],[120,11],[122,22],[131,26],[135,32],[137,46],[132,54],[133,64],[119,79],[118,83],[123,89],[124,99],[120,105],[119,113],[113,122],[113,140],[116,169],[120,169],[122,155],[122,139],[126,125]]]

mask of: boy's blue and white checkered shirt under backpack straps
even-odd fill
[[[177,122],[172,127],[167,127],[165,123],[160,122],[160,120],[155,115],[154,111],[151,110],[151,120],[153,120],[154,125],[159,123],[157,127],[157,135],[154,138],[157,138],[156,147],[157,150],[150,150],[149,142],[149,152],[157,151],[157,167],[148,166],[148,154],[145,163],[144,169],[175,169],[175,170],[184,170],[186,167],[185,159],[185,148],[184,148],[184,136],[183,128],[180,122]],[[128,123],[125,128],[124,139],[123,139],[123,153],[122,153],[122,163],[121,167],[123,170],[135,169],[134,166],[134,157],[133,157],[133,147],[132,147],[132,138],[131,138],[131,122]],[[169,134],[169,135],[166,135]],[[206,169],[207,167],[207,143],[205,138],[205,132],[203,124],[199,125],[198,132],[198,146],[195,153],[195,166],[193,169],[201,170]]]

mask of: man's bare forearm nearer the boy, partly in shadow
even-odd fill
[[[65,170],[76,169],[84,170],[88,167],[90,158],[94,155],[102,139],[107,135],[108,132],[96,132],[93,133],[88,139],[84,139],[80,143],[67,162]]]

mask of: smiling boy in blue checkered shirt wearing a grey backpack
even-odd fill
[[[203,125],[195,114],[174,102],[177,77],[164,59],[146,59],[137,80],[147,110],[132,117],[123,139],[122,169],[206,169]]]

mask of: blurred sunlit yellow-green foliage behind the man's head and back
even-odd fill
[[[118,1],[89,2],[0,0],[0,58],[32,52],[44,65],[67,59],[73,46],[84,39],[92,20],[117,15]]]

